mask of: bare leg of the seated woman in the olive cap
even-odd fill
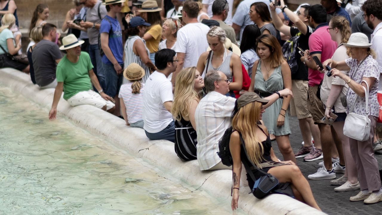
[[[284,165],[270,168],[268,173],[275,176],[279,182],[291,182],[295,186],[296,190],[301,194],[304,202],[307,205],[321,210],[316,200],[314,200],[312,190],[309,186],[308,181],[301,173],[300,169],[296,165]]]

